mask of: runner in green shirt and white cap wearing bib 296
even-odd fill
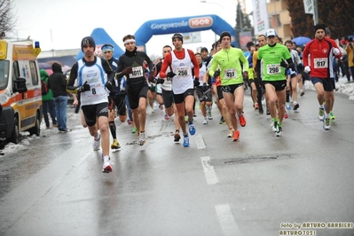
[[[257,71],[261,73],[271,117],[274,119],[273,131],[279,137],[282,132],[282,122],[285,112],[287,67],[295,70],[293,59],[287,47],[276,43],[277,33],[273,28],[267,30],[268,44],[258,50]],[[261,71],[261,60],[263,63]],[[277,109],[278,105],[278,109]],[[278,114],[277,114],[278,113]]]

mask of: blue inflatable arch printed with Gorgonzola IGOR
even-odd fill
[[[216,15],[200,15],[182,18],[171,18],[146,21],[135,33],[137,47],[146,51],[146,43],[153,35],[168,35],[174,33],[189,33],[211,29],[220,35],[228,31],[232,35],[232,44],[236,43],[235,30],[225,20]]]

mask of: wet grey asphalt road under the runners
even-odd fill
[[[111,153],[110,174],[101,172],[77,115],[72,132],[0,157],[0,235],[252,236],[279,235],[294,223],[353,223],[354,102],[336,94],[327,131],[315,92],[298,102],[276,138],[270,117],[246,95],[248,123],[237,143],[218,124],[216,106],[208,125],[197,110],[187,148],[173,143],[173,123],[160,110],[148,110],[145,146],[117,121],[122,150]],[[354,235],[352,228],[307,230]]]

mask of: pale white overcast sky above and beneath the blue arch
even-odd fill
[[[13,0],[17,18],[16,35],[39,41],[42,51],[78,49],[81,39],[94,28],[104,28],[122,50],[122,37],[135,34],[147,20],[179,18],[203,14],[216,14],[232,27],[235,26],[237,0]],[[252,12],[252,1],[247,0],[247,12]],[[134,4],[133,4],[134,3]],[[162,11],[161,11],[162,9]],[[160,11],[159,11],[160,10]],[[161,47],[170,44],[171,35],[153,35],[146,43],[148,54],[161,53]],[[210,48],[215,34],[201,32],[203,43],[185,44],[195,50],[199,46]]]

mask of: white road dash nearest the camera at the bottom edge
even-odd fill
[[[224,235],[241,235],[239,225],[236,224],[235,219],[232,216],[232,211],[229,204],[216,205],[215,209]]]

